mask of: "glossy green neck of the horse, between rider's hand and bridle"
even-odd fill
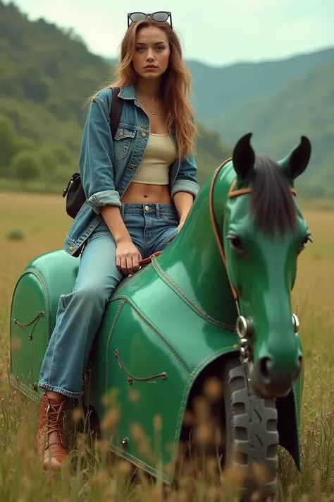
[[[229,165],[224,167],[224,177],[233,180]],[[210,222],[209,189],[211,177],[200,191],[182,232],[168,244],[157,258],[168,280],[182,287],[190,301],[217,321],[235,326],[237,310],[230,291],[230,282],[214,231]],[[227,192],[228,185],[224,185]],[[221,202],[225,198],[221,196]],[[221,215],[223,222],[223,212]]]

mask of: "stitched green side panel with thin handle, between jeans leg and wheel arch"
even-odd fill
[[[99,388],[107,392],[117,390],[117,402],[120,410],[120,422],[116,434],[111,437],[113,450],[124,458],[135,461],[148,472],[154,472],[156,465],[154,453],[161,450],[163,462],[171,461],[171,446],[175,443],[175,429],[180,430],[183,414],[183,395],[189,379],[185,366],[178,361],[171,350],[156,333],[149,322],[143,321],[141,313],[127,302],[113,302],[106,315],[106,325],[112,325],[116,314],[116,323],[104,343],[99,343],[97,361],[101,368],[97,379],[92,379],[92,389]],[[131,329],[128,326],[131,325]],[[105,345],[106,342],[106,345]],[[118,351],[122,368],[114,352]],[[129,385],[129,374],[133,377]],[[161,373],[164,377],[156,377],[148,381],[136,378],[150,378]],[[101,379],[100,379],[101,378]],[[102,387],[103,386],[103,387]],[[94,394],[96,394],[94,392]],[[98,404],[101,414],[103,405]],[[162,444],[154,444],[154,417],[162,419]],[[140,425],[142,434],[148,438],[149,449],[142,451],[142,444],[132,434],[132,426]],[[108,431],[104,433],[108,436]],[[128,438],[128,445],[122,447],[121,441]],[[159,448],[159,449],[157,449]],[[160,456],[160,455],[159,455]]]

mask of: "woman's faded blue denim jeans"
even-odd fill
[[[177,234],[178,213],[168,204],[124,204],[120,213],[142,258],[162,251]],[[56,325],[44,355],[39,387],[69,398],[82,394],[82,373],[111,293],[124,277],[104,220],[82,252],[73,291],[61,295]]]

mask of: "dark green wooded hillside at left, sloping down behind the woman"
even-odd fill
[[[78,170],[85,102],[111,71],[71,30],[30,22],[15,4],[0,1],[0,178],[65,183]],[[230,149],[199,130],[203,180]]]

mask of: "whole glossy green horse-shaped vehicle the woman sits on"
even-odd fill
[[[120,419],[101,434],[120,458],[171,484],[192,433],[202,452],[218,452],[222,467],[245,474],[244,501],[256,489],[274,499],[279,445],[301,469],[304,369],[291,291],[310,239],[294,189],[309,163],[309,140],[274,162],[255,155],[251,136],[206,181],[180,234],[113,293],[85,386],[100,423],[109,413],[103,398],[117,390]],[[11,341],[19,339],[21,350],[12,343],[11,378],[36,402],[58,299],[73,289],[79,260],[62,250],[39,256],[13,292]],[[201,396],[209,409],[202,422]],[[267,471],[261,483],[255,463]]]

